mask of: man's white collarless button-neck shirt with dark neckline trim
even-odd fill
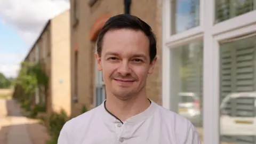
[[[58,144],[200,144],[193,124],[153,101],[125,122],[111,115],[104,104],[68,121]]]

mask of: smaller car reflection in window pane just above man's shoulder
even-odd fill
[[[193,92],[181,92],[179,93],[179,111],[178,113],[183,117],[186,117],[195,126],[200,125],[200,102],[196,93]]]

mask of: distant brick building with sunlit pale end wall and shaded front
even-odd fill
[[[33,97],[33,105],[45,105],[47,114],[61,109],[68,115],[71,113],[69,19],[70,11],[67,10],[47,21],[24,60],[41,63],[49,77],[47,92],[38,87]],[[15,91],[19,97],[22,95],[20,87]]]

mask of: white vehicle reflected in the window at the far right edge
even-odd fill
[[[231,93],[222,100],[220,134],[256,136],[256,92]]]

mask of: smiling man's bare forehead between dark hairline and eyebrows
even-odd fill
[[[149,40],[140,30],[110,30],[104,36],[102,43],[102,54],[108,52],[149,55]]]

